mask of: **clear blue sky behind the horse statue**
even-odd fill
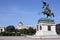
[[[60,23],[60,0],[46,0],[55,14],[55,23]],[[41,17],[42,0],[0,0],[0,26],[35,25]]]

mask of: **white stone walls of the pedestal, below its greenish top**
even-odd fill
[[[36,31],[36,35],[57,35],[56,34],[56,26],[55,24],[38,24],[38,31]],[[48,25],[51,26],[51,31],[48,31]],[[40,26],[42,30],[40,30]]]

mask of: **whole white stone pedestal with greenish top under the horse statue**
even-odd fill
[[[37,24],[36,36],[51,36],[56,34],[55,22],[52,19],[41,18]]]

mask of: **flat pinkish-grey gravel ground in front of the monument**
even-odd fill
[[[60,38],[28,38],[24,36],[0,36],[0,40],[60,40]]]

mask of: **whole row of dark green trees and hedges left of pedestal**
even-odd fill
[[[0,33],[1,36],[24,36],[24,35],[33,35],[36,33],[36,29],[32,27],[28,29],[15,29],[13,25],[9,25],[5,28],[5,32]]]

